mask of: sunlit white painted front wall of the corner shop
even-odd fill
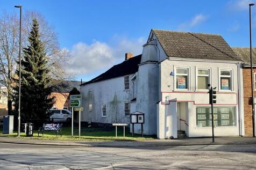
[[[175,74],[175,66],[188,66],[190,68],[190,89],[188,91],[178,91],[174,89],[174,78],[175,76],[170,76],[170,72],[173,71]],[[222,62],[208,62],[208,61],[184,61],[184,60],[165,60],[161,62],[161,101],[159,105],[159,138],[168,138],[170,136],[176,137],[176,125],[173,123],[175,121],[166,121],[163,114],[168,115],[172,113],[175,115],[175,104],[177,101],[187,102],[186,109],[188,110],[187,114],[187,123],[189,127],[186,129],[186,133],[189,137],[198,137],[198,136],[211,136],[210,127],[196,127],[196,106],[207,106],[209,103],[209,94],[196,89],[196,68],[198,67],[208,67],[211,69],[211,83],[212,86],[217,87],[217,105],[225,106],[235,106],[236,107],[236,126],[235,127],[216,127],[215,135],[216,136],[233,136],[239,135],[239,119],[240,114],[243,116],[243,105],[240,105],[239,109],[239,83],[238,82],[238,73],[239,66],[236,63],[222,63]],[[233,91],[229,93],[219,91],[219,68],[230,68],[233,73]],[[242,76],[240,74],[240,76]],[[241,78],[243,79],[243,78]],[[242,97],[242,96],[240,96]],[[241,103],[240,103],[241,104]],[[208,105],[210,106],[210,105]],[[173,116],[175,119],[175,116]],[[168,118],[166,118],[168,120]],[[163,125],[165,124],[165,126]],[[172,126],[171,131],[167,131],[166,128]],[[189,132],[187,132],[189,131]],[[242,129],[243,131],[243,129]]]

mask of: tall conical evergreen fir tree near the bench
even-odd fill
[[[22,121],[48,119],[47,110],[52,107],[51,77],[47,68],[44,45],[40,40],[39,24],[33,19],[33,27],[29,34],[29,45],[23,48],[21,68],[21,102],[20,116]],[[18,75],[18,70],[17,70]],[[18,80],[15,88],[15,110],[18,112]]]

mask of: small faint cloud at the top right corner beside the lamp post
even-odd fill
[[[227,2],[228,8],[232,11],[243,11],[249,9],[249,4],[253,3],[252,0],[232,0]]]

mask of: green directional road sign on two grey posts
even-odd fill
[[[74,124],[74,108],[75,111],[79,111],[79,137],[80,137],[80,132],[81,132],[81,111],[83,111],[83,108],[80,107],[82,104],[82,95],[81,94],[77,94],[77,95],[70,95],[70,107],[72,107],[72,132],[71,132],[71,136],[73,136],[73,124]]]

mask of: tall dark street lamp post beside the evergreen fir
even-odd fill
[[[20,9],[20,12],[19,12],[19,115],[18,115],[18,137],[20,136],[20,85],[21,85],[21,82],[20,82],[20,76],[21,76],[21,73],[20,73],[20,68],[21,68],[21,46],[22,46],[22,5],[16,5],[14,6],[15,8],[19,8]]]

